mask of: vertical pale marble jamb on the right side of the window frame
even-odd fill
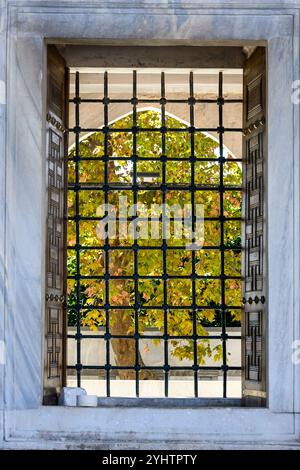
[[[294,143],[290,61],[292,39],[272,39],[268,51],[268,127],[278,135],[268,139],[267,216],[268,216],[268,377],[269,406],[278,411],[293,411],[291,343],[293,314],[297,315],[293,293],[294,230]],[[278,59],[280,67],[278,67]],[[270,90],[276,87],[274,95]],[[277,95],[278,93],[278,95]],[[290,137],[288,137],[290,136]],[[299,182],[298,182],[299,184]],[[298,235],[299,236],[299,235]],[[291,248],[293,247],[293,248]],[[278,399],[280,397],[280,399]]]

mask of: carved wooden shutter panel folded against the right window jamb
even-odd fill
[[[260,405],[266,398],[265,64],[258,47],[244,71],[243,396]]]

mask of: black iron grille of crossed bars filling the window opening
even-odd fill
[[[243,131],[242,128],[229,128],[224,127],[224,120],[223,120],[223,110],[224,106],[227,103],[242,103],[241,99],[225,99],[223,96],[223,73],[219,72],[218,78],[218,97],[216,99],[197,99],[194,96],[194,78],[193,72],[190,72],[189,75],[189,97],[187,99],[167,99],[166,92],[165,92],[165,73],[161,72],[161,94],[156,99],[140,99],[137,96],[137,73],[133,71],[132,74],[132,98],[131,99],[111,99],[108,95],[108,73],[104,73],[104,90],[103,90],[103,97],[99,97],[99,99],[84,99],[80,95],[80,73],[76,72],[75,75],[75,96],[69,100],[70,103],[73,103],[75,106],[75,126],[70,127],[68,129],[69,133],[74,133],[75,135],[75,152],[73,157],[69,157],[69,161],[74,162],[75,166],[75,181],[69,182],[68,184],[68,191],[75,193],[75,214],[72,216],[68,216],[68,221],[73,221],[75,223],[75,233],[76,233],[76,242],[74,246],[68,246],[67,250],[70,252],[75,252],[76,254],[76,273],[74,275],[69,275],[68,279],[73,279],[76,281],[76,333],[68,334],[68,338],[72,338],[76,340],[77,343],[77,361],[76,364],[69,364],[67,369],[75,370],[77,376],[77,385],[81,385],[82,381],[82,372],[84,370],[92,369],[92,370],[101,370],[105,374],[106,377],[106,395],[107,397],[111,396],[111,374],[114,371],[118,371],[120,369],[125,370],[133,370],[135,372],[135,393],[136,396],[139,397],[140,395],[140,373],[142,370],[152,370],[155,369],[160,370],[164,376],[164,395],[168,397],[168,385],[169,385],[169,375],[173,371],[189,371],[193,373],[194,376],[194,396],[199,396],[199,380],[198,374],[200,371],[222,371],[223,374],[223,398],[227,397],[227,376],[228,372],[231,370],[241,370],[239,366],[231,366],[228,364],[227,360],[227,341],[228,340],[241,340],[241,336],[233,336],[230,335],[226,329],[226,316],[229,311],[232,310],[241,310],[241,305],[227,305],[226,304],[226,281],[230,279],[241,279],[241,276],[228,276],[225,273],[225,253],[226,251],[240,250],[239,247],[232,247],[228,246],[225,241],[225,234],[224,234],[224,226],[225,223],[228,221],[241,221],[241,217],[228,217],[224,214],[224,194],[230,191],[242,191],[243,188],[237,187],[236,185],[230,186],[225,184],[224,182],[224,165],[228,159],[224,156],[224,134],[227,132],[235,132],[241,133]],[[102,128],[91,128],[86,127],[82,128],[80,125],[80,106],[82,103],[99,103],[103,105],[103,113],[104,113],[104,125]],[[132,106],[132,126],[128,128],[117,128],[115,126],[109,125],[109,106],[113,103],[127,103]],[[138,126],[138,105],[151,105],[151,104],[159,104],[160,105],[160,116],[161,116],[161,126],[157,128],[142,128]],[[190,125],[187,127],[182,128],[168,128],[166,126],[166,106],[168,103],[182,103],[187,104],[189,106],[189,114],[190,114]],[[218,110],[218,125],[217,127],[195,127],[195,106],[198,103],[210,103],[217,106]],[[95,162],[104,162],[104,182],[103,183],[83,183],[80,182],[79,177],[79,164],[81,162],[80,156],[80,137],[84,134],[88,133],[95,133],[101,132],[104,136],[104,154],[101,157],[93,157],[90,156],[89,158],[84,157],[84,161],[90,160]],[[109,161],[112,158],[109,155],[109,135],[114,132],[122,132],[122,133],[129,133],[132,135],[132,156],[130,160],[132,161],[132,184],[121,184],[121,183],[111,183],[108,178],[108,165]],[[109,191],[111,190],[124,190],[130,191],[133,194],[133,201],[134,204],[138,202],[138,191],[140,190],[153,190],[153,185],[147,184],[147,182],[139,183],[138,180],[138,168],[137,163],[139,161],[147,160],[147,157],[142,157],[138,155],[137,152],[137,136],[140,133],[144,132],[155,132],[161,136],[161,156],[155,158],[151,157],[151,160],[159,160],[162,163],[162,181],[160,184],[155,186],[156,190],[161,191],[162,195],[162,202],[166,202],[166,194],[168,190],[176,190],[176,191],[189,191],[191,194],[191,204],[192,204],[192,224],[194,228],[194,221],[195,221],[195,195],[197,192],[200,191],[213,191],[219,194],[220,200],[220,213],[217,217],[205,217],[204,220],[206,221],[215,221],[219,223],[220,227],[220,243],[217,245],[205,245],[203,246],[202,250],[218,250],[220,252],[220,275],[218,276],[205,276],[199,275],[196,273],[196,253],[192,251],[192,274],[186,276],[178,276],[178,275],[170,275],[168,274],[167,269],[167,252],[168,249],[171,248],[172,250],[182,250],[185,249],[185,246],[174,246],[168,247],[167,240],[165,239],[165,232],[164,232],[164,225],[163,225],[163,239],[161,244],[161,251],[162,251],[162,259],[163,259],[163,266],[162,266],[162,275],[161,276],[150,276],[150,275],[143,275],[139,274],[138,269],[138,256],[141,249],[149,250],[149,255],[151,250],[157,250],[157,246],[141,246],[137,240],[134,241],[132,246],[115,246],[110,244],[110,240],[106,238],[105,243],[99,246],[84,246],[80,243],[80,222],[81,221],[97,221],[100,220],[101,217],[88,217],[81,214],[80,211],[80,193],[82,191],[91,191],[91,190],[101,190],[104,193],[104,201],[106,204],[109,203]],[[184,133],[187,139],[190,139],[190,156],[189,157],[182,157],[182,158],[175,158],[166,155],[166,133],[167,132],[175,132],[175,133]],[[217,158],[198,158],[195,155],[194,151],[194,141],[195,141],[195,134],[199,132],[207,132],[207,133],[217,133],[218,134],[218,145],[219,145],[219,155]],[[114,161],[124,160],[127,157],[113,157]],[[190,174],[190,183],[184,185],[178,184],[169,184],[166,180],[166,165],[168,161],[187,161],[191,164],[191,174]],[[201,185],[196,184],[195,182],[195,162],[202,161],[202,162],[218,162],[219,163],[219,182],[218,184],[212,185]],[[231,160],[232,161],[232,160]],[[242,159],[235,158],[234,162],[242,163]],[[107,214],[106,214],[107,216]],[[135,214],[131,220],[135,220],[137,214]],[[192,240],[194,241],[194,240]],[[110,273],[110,256],[113,253],[113,250],[130,250],[133,252],[134,258],[134,272],[133,276],[115,276]],[[99,276],[84,276],[81,274],[81,260],[80,254],[82,250],[104,250],[105,252],[105,272],[104,275]],[[81,282],[88,278],[99,279],[105,282],[105,299],[103,305],[93,305],[88,306],[84,305],[80,300],[81,295]],[[140,279],[159,279],[163,283],[163,303],[161,305],[141,305],[139,302],[139,280]],[[191,279],[192,281],[192,296],[191,296],[191,303],[184,306],[177,306],[177,305],[170,305],[168,304],[168,281],[170,279]],[[112,305],[110,303],[110,281],[113,279],[132,279],[134,283],[134,296],[135,302],[133,305]],[[222,343],[222,364],[216,366],[206,366],[200,365],[198,358],[197,358],[197,341],[201,339],[207,339],[207,336],[201,336],[197,334],[197,313],[201,312],[201,310],[211,309],[210,305],[198,305],[196,299],[196,281],[198,279],[217,279],[220,281],[221,287],[221,303],[214,307],[215,310],[220,314],[221,317],[221,334],[215,336],[209,336],[209,339],[219,339]],[[161,310],[164,313],[164,332],[161,337],[164,343],[164,365],[159,367],[151,367],[151,366],[141,366],[139,363],[139,343],[141,339],[157,339],[157,336],[151,334],[140,334],[139,331],[139,314],[141,308],[145,311],[147,310]],[[104,310],[105,317],[106,317],[106,324],[105,324],[105,331],[102,334],[101,332],[97,332],[96,335],[93,335],[93,338],[101,339],[106,343],[106,363],[104,365],[84,365],[82,364],[81,359],[81,344],[86,339],[90,339],[91,336],[85,334],[82,331],[81,326],[81,318],[82,318],[82,311],[88,310]],[[134,332],[132,335],[113,335],[110,331],[110,312],[112,310],[131,310],[134,312]],[[192,321],[193,321],[193,334],[189,336],[172,336],[168,331],[168,312],[170,310],[189,310],[191,313]],[[99,334],[98,334],[99,333]],[[132,339],[135,341],[135,365],[133,366],[118,366],[112,365],[111,363],[111,352],[110,352],[110,343],[112,339],[119,338],[119,339]],[[169,364],[169,343],[171,340],[191,340],[193,341],[194,345],[194,360],[191,366],[172,366]]]

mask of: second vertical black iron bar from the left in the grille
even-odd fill
[[[105,217],[109,216],[108,213],[108,190],[109,190],[109,154],[108,154],[108,74],[104,72],[104,203],[105,203]],[[106,337],[106,395],[110,397],[110,305],[109,305],[109,227],[104,227],[105,232],[105,337]]]

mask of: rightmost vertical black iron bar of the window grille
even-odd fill
[[[219,163],[220,163],[220,246],[221,246],[221,321],[222,321],[222,370],[223,398],[227,396],[226,353],[226,289],[225,289],[225,245],[224,245],[224,148],[223,148],[223,73],[219,72]]]

